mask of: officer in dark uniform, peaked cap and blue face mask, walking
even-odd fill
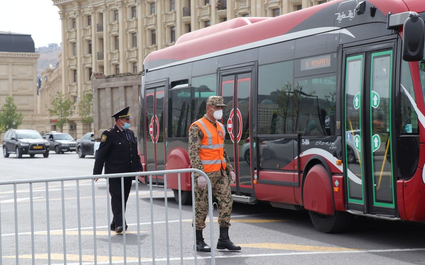
[[[137,143],[130,126],[131,115],[129,106],[119,110],[111,117],[115,118],[115,126],[103,131],[99,149],[94,160],[93,175],[104,173],[126,173],[142,171],[140,156],[137,153]],[[124,177],[124,212],[133,177]],[[95,179],[97,181],[97,179]],[[112,223],[110,229],[120,233],[125,222],[122,221],[121,178],[109,178],[110,205],[112,208]],[[127,224],[125,223],[125,230]]]

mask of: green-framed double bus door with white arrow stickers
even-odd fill
[[[392,43],[344,51],[344,171],[348,210],[396,216]],[[336,183],[334,183],[336,184]]]

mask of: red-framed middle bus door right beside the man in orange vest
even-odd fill
[[[223,109],[223,125],[226,128],[225,148],[236,173],[231,185],[235,195],[253,194],[252,149],[250,120],[252,116],[253,66],[220,69],[221,95],[227,107]]]

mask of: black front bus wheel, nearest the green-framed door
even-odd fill
[[[325,215],[308,211],[314,227],[323,233],[337,233],[345,231],[351,220],[351,214],[345,211],[335,211],[335,215]]]

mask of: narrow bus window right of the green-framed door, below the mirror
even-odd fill
[[[420,71],[421,74],[424,74],[423,71]],[[414,100],[414,91],[413,91],[413,82],[411,80],[410,68],[407,61],[401,62],[401,84],[410,94]],[[423,83],[422,83],[423,87]],[[403,88],[401,88],[403,90]],[[401,134],[417,134],[417,114],[414,108],[411,105],[410,100],[408,99],[405,91],[400,91],[400,107],[401,107]]]

